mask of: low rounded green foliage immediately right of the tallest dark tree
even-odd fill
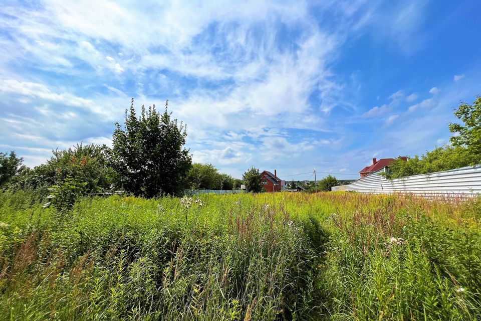
[[[187,181],[191,188],[196,190],[232,190],[234,186],[234,179],[218,173],[212,164],[192,164],[187,173]]]

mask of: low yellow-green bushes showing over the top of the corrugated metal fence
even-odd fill
[[[406,162],[398,157],[389,165],[389,174],[382,175],[395,179],[457,169],[471,165],[473,163],[471,156],[465,147],[444,145],[426,151],[421,156],[408,157]]]

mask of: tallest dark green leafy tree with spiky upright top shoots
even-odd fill
[[[142,106],[137,117],[132,99],[130,110],[125,111],[124,128],[119,123],[115,126],[112,166],[124,189],[144,197],[180,194],[186,187],[191,156],[184,148],[185,126],[171,119],[168,101],[163,113],[157,112],[155,105],[147,110]]]

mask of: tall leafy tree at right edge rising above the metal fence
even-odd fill
[[[472,105],[461,103],[454,115],[463,124],[449,123],[449,131],[455,133],[449,140],[454,146],[464,146],[471,154],[470,165],[481,163],[481,97]]]

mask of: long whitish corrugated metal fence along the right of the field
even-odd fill
[[[481,165],[393,180],[388,180],[379,175],[382,171],[374,172],[349,185],[335,186],[332,190],[375,194],[415,194],[428,197],[475,196],[481,194]]]

